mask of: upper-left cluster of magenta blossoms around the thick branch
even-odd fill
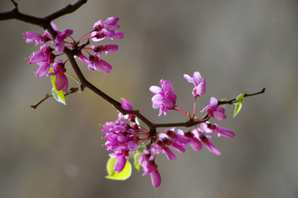
[[[123,32],[115,31],[115,29],[120,28],[120,25],[117,24],[118,20],[118,17],[110,17],[107,18],[107,20],[104,22],[97,21],[93,25],[93,30],[83,35],[78,41],[74,41],[74,39],[71,37],[71,35],[73,34],[72,29],[66,29],[63,32],[60,32],[53,22],[51,22],[51,26],[57,33],[55,39],[52,38],[51,34],[47,30],[44,32],[44,35],[28,31],[24,33],[26,43],[35,42],[35,45],[43,46],[41,46],[39,51],[33,52],[33,54],[26,59],[30,59],[29,64],[37,63],[39,65],[39,68],[36,72],[36,77],[39,78],[45,75],[56,76],[55,86],[57,91],[63,90],[65,92],[68,90],[68,79],[66,77],[66,74],[69,75],[68,73],[66,73],[65,68],[65,63],[67,61],[56,60],[55,62],[55,58],[62,55],[63,53],[54,54],[53,52],[63,52],[66,47],[72,48],[74,57],[77,57],[82,62],[88,64],[89,69],[109,73],[112,70],[112,66],[106,61],[99,58],[99,56],[102,53],[107,54],[108,51],[118,50],[117,45],[98,45],[91,46],[91,48],[87,48],[87,45],[79,45],[81,44],[81,42],[89,39],[94,42],[101,41],[105,38],[109,40],[122,39],[124,35]],[[87,35],[90,35],[90,37],[83,39]],[[65,41],[67,38],[71,38],[72,42]],[[45,43],[47,43],[48,41],[52,41],[54,48],[45,45]],[[66,46],[66,44],[69,46]],[[88,50],[91,50],[93,54],[90,54]],[[88,56],[84,55],[83,51],[86,52]],[[52,63],[54,63],[54,72],[49,73]]]

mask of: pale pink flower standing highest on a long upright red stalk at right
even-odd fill
[[[194,84],[195,88],[193,89],[192,95],[194,97],[203,96],[206,92],[206,80],[205,78],[201,77],[200,72],[196,71],[194,72],[193,78],[191,78],[189,75],[184,74],[183,75],[186,80],[188,80],[189,83]]]

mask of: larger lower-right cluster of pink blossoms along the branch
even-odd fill
[[[157,188],[161,184],[161,176],[158,165],[155,163],[156,154],[164,153],[168,160],[176,160],[177,157],[171,148],[184,153],[189,144],[196,151],[201,150],[205,145],[212,153],[221,155],[220,150],[210,142],[211,136],[207,134],[216,133],[218,137],[227,138],[235,136],[232,131],[208,121],[211,117],[218,120],[226,118],[224,108],[218,106],[218,100],[214,97],[211,97],[210,104],[200,111],[207,111],[207,114],[202,119],[195,117],[196,99],[205,94],[206,80],[201,77],[199,72],[194,72],[193,77],[184,74],[184,78],[195,86],[192,91],[192,95],[195,97],[192,116],[191,113],[176,105],[177,96],[173,93],[173,85],[163,79],[159,81],[161,88],[157,86],[149,88],[155,94],[152,97],[152,107],[159,108],[158,116],[162,112],[166,115],[171,110],[178,111],[187,116],[191,123],[197,123],[193,125],[194,128],[190,127],[186,131],[175,130],[175,128],[160,132],[155,129],[147,130],[138,124],[135,115],[122,115],[121,113],[119,113],[117,121],[107,122],[103,125],[102,132],[107,133],[104,138],[107,140],[105,147],[108,151],[114,151],[110,156],[116,159],[113,166],[116,173],[121,172],[126,163],[129,163],[129,157],[135,157],[139,165],[143,167],[143,175],[150,174],[153,187]],[[133,110],[127,99],[122,99],[121,105],[124,109]],[[122,121],[122,119],[128,119],[128,122]]]

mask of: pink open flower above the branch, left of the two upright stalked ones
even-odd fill
[[[151,99],[153,108],[160,108],[158,116],[161,115],[162,111],[166,115],[170,110],[174,109],[177,99],[177,96],[173,93],[173,86],[169,81],[161,79],[159,84],[161,88],[151,86],[149,89],[150,92],[155,94]]]

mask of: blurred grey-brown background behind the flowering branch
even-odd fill
[[[44,17],[75,0],[17,2],[21,12]],[[1,12],[12,8],[9,0],[0,1]],[[110,16],[120,17],[125,33],[122,40],[102,42],[119,45],[103,56],[113,70],[80,67],[91,83],[114,99],[129,99],[152,122],[185,120],[176,112],[158,117],[151,107],[149,87],[160,79],[172,82],[177,105],[186,111],[192,111],[193,85],[183,74],[194,71],[207,80],[197,112],[211,96],[266,92],[245,98],[235,118],[227,105],[226,121],[213,120],[236,134],[214,136],[221,156],[190,147],[174,151],[176,161],[158,155],[162,184],[156,190],[143,171],[133,170],[127,181],[108,180],[100,124],[116,120],[116,110],[87,89],[68,96],[67,105],[48,99],[30,108],[51,93],[51,83],[36,78],[37,65],[24,59],[39,47],[26,44],[22,33],[43,30],[0,21],[1,198],[298,197],[297,0],[88,0],[54,22],[78,39]]]

